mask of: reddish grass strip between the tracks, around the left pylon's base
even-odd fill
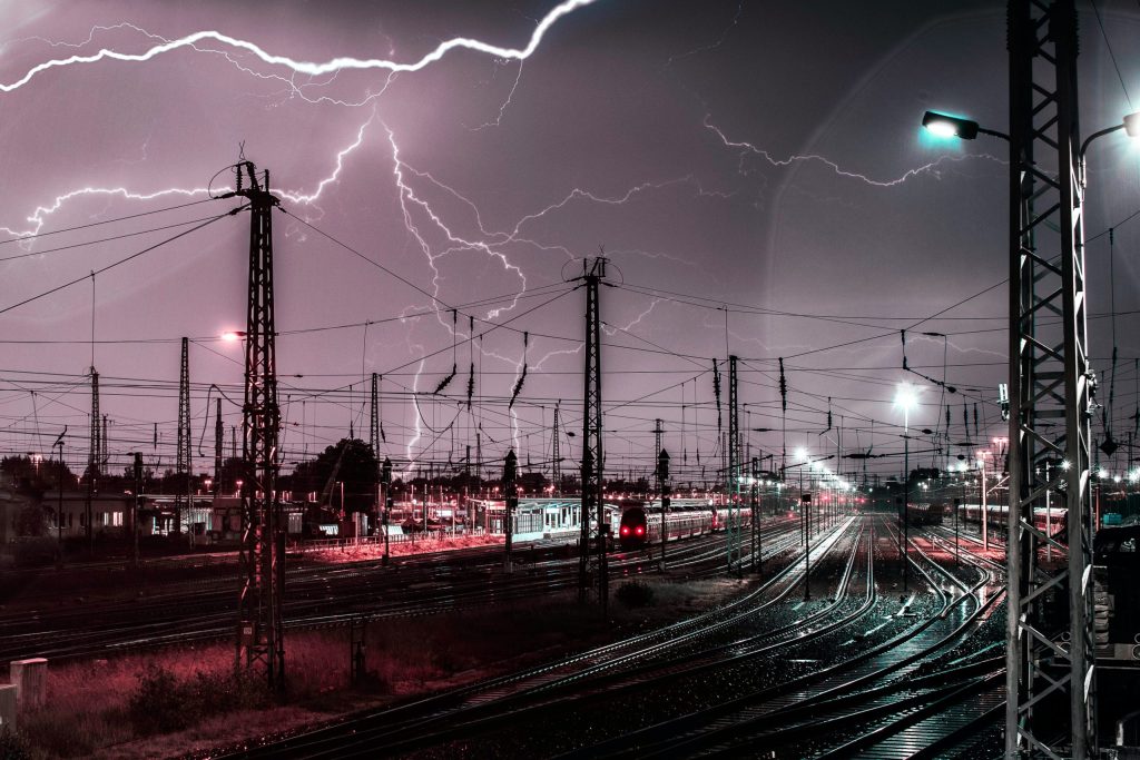
[[[290,632],[288,689],[279,701],[233,683],[231,643],[51,664],[48,706],[23,713],[21,734],[38,760],[203,752],[548,661],[691,614],[740,588],[652,578],[641,585],[656,603],[612,604],[610,621],[595,605],[578,605],[575,593],[373,621],[365,637],[368,678],[357,688],[349,685],[348,629]]]

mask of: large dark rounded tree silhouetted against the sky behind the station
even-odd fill
[[[283,476],[280,488],[300,492],[317,491],[318,498],[327,500],[334,509],[366,512],[376,500],[378,471],[380,465],[370,446],[360,439],[341,439],[316,459],[299,464],[292,475]],[[344,483],[343,505],[341,489],[336,483]],[[324,495],[326,489],[331,489],[327,497]]]

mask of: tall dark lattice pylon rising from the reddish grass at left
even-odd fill
[[[250,209],[237,663],[241,665],[244,654],[246,668],[262,668],[269,686],[280,689],[285,686],[282,619],[285,532],[277,492],[280,408],[277,404],[272,243],[272,211],[279,201],[269,193],[269,172],[266,171],[259,181],[256,169],[247,161],[236,165],[236,187],[221,197],[244,197]]]

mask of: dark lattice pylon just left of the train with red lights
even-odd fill
[[[609,602],[605,565],[605,502],[602,498],[602,318],[597,291],[605,278],[605,258],[583,260],[580,279],[586,285],[586,368],[583,373],[581,415],[581,536],[578,564],[578,595],[585,599],[592,579],[596,579],[603,607]],[[596,515],[591,531],[589,516]]]

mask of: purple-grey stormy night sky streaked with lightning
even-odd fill
[[[1140,10],[1078,7],[1088,134],[1140,109]],[[212,467],[211,384],[241,422],[242,351],[219,335],[244,329],[249,216],[84,276],[235,207],[207,188],[231,186],[243,145],[288,212],[275,215],[286,469],[350,425],[367,439],[372,373],[398,468],[457,463],[480,426],[484,461],[513,442],[539,468],[557,400],[580,428],[585,296],[567,280],[603,247],[611,473],[649,468],[660,417],[677,476],[714,479],[712,362],[728,353],[741,425],[774,431],[784,359],[789,453],[836,451],[829,398],[845,452],[899,451],[903,381],[921,389],[911,427],[945,433],[950,406],[951,442],[1003,435],[1005,145],[939,142],[919,122],[930,108],[1005,129],[1004,18],[1004,3],[956,0],[2,3],[0,232],[40,236],[0,250],[0,450],[46,453],[66,424],[81,469],[93,363],[114,468],[135,450],[171,467],[189,336],[195,469]],[[1122,441],[1138,166],[1123,133],[1090,153],[1090,334],[1105,402],[1115,296]],[[902,369],[904,328],[909,366],[956,393]],[[563,469],[580,440],[562,438]],[[750,444],[779,460],[784,441]],[[930,448],[912,444],[912,465],[944,464]]]

